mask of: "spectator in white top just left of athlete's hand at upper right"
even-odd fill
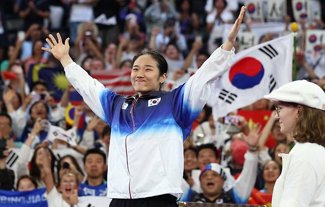
[[[206,32],[209,34],[208,52],[212,52],[222,44],[223,24],[234,21],[233,14],[226,10],[226,0],[214,0],[214,8],[206,16]]]

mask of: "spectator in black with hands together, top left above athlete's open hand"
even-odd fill
[[[21,0],[19,16],[24,19],[25,31],[32,24],[43,25],[44,19],[50,16],[49,0]]]

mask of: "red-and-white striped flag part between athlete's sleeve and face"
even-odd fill
[[[115,91],[122,95],[134,95],[134,89],[131,84],[131,70],[117,69],[112,71],[95,70],[90,75],[101,82],[105,88]]]

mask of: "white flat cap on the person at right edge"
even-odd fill
[[[306,80],[296,80],[284,84],[269,95],[264,96],[264,98],[325,110],[325,93],[323,89],[317,84]]]

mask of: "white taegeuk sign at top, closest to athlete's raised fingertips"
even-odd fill
[[[245,0],[245,6],[247,7],[246,14],[251,22],[261,23],[264,21],[261,0]]]

